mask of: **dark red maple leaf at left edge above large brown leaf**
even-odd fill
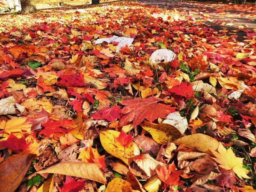
[[[25,137],[18,139],[14,134],[10,134],[6,141],[0,142],[0,149],[10,148],[13,152],[19,152],[19,150],[27,149],[30,143],[26,142]]]

